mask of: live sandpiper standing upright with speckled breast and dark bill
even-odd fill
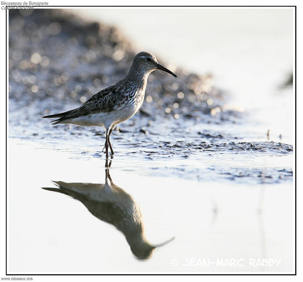
[[[52,125],[71,123],[104,127],[106,156],[108,156],[108,146],[114,154],[109,137],[116,125],[128,120],[140,109],[144,100],[147,78],[154,70],[163,70],[178,77],[160,65],[153,53],[140,52],[135,56],[126,76],[115,85],[97,92],[77,109],[47,115],[43,118],[58,118]]]

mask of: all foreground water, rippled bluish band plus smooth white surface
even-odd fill
[[[291,145],[222,124],[201,130],[148,117],[121,124],[112,134],[112,180],[141,207],[151,244],[175,237],[138,261],[115,227],[40,189],[55,188],[52,180],[105,183],[102,129],[51,126],[27,115],[31,109],[10,112],[10,273],[293,271]],[[26,260],[19,255],[28,252]],[[279,264],[250,264],[263,258]]]

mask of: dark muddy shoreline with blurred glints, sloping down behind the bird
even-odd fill
[[[132,44],[115,27],[85,22],[64,10],[10,10],[9,28],[10,138],[41,142],[75,158],[104,158],[102,128],[52,126],[41,116],[76,108],[116,83],[131,65]],[[289,164],[272,165],[266,173],[260,160],[255,167],[246,166],[250,159],[288,156],[292,145],[267,141],[266,132],[261,138],[248,134],[249,114],[228,104],[227,93],[212,85],[210,74],[188,73],[161,57],[158,61],[179,77],[151,74],[142,108],[112,134],[115,158],[143,161],[151,175],[158,170],[157,175],[203,181],[292,181]],[[161,160],[171,165],[162,167]],[[180,160],[184,165],[176,165]]]

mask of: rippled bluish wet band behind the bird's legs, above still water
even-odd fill
[[[39,148],[70,152],[74,159],[104,159],[104,130],[50,125],[39,115],[43,104],[50,102],[19,108],[18,103],[10,101],[9,136],[38,143]],[[143,116],[131,120],[112,133],[115,158],[125,162],[131,158],[137,164],[138,168],[130,170],[152,176],[174,173],[202,181],[228,179],[248,185],[292,182],[292,145],[265,141],[266,135],[260,138],[256,133],[237,132],[244,125],[227,131],[230,123],[215,127],[181,118]],[[202,128],[215,130],[198,131]]]

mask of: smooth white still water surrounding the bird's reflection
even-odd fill
[[[51,180],[105,183],[104,159],[75,160],[72,152],[15,141],[10,143],[8,183],[11,273],[292,271],[289,181],[247,185],[226,179],[189,180],[170,173],[163,161],[157,171],[166,171],[165,176],[148,175],[139,172],[143,162],[131,164],[115,156],[112,180],[141,206],[147,240],[158,244],[175,237],[156,248],[149,260],[138,261],[124,235],[92,216],[79,201],[40,189],[55,187]],[[20,229],[26,230],[22,238]],[[188,265],[187,260],[203,258],[243,259],[243,266]],[[249,259],[258,258],[281,262],[249,265]],[[178,260],[176,266],[173,259]]]

